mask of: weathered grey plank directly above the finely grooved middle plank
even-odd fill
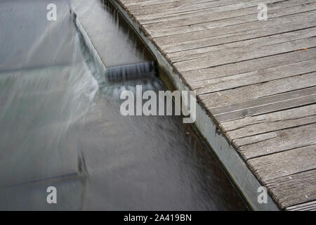
[[[265,96],[272,96],[288,91],[312,87],[316,84],[315,75],[316,72],[312,72],[306,75],[277,79],[271,82],[265,82],[263,84],[252,84],[237,89],[219,91],[211,94],[203,94],[199,95],[198,97],[204,106],[211,109],[224,105],[231,105],[233,103],[249,101],[256,98],[263,98]]]

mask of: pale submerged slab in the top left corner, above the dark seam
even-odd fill
[[[0,2],[0,71],[79,61],[67,1],[54,1],[56,21],[47,19],[48,4],[51,1]]]

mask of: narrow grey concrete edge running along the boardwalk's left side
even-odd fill
[[[163,54],[157,49],[157,46],[155,46],[143,32],[140,25],[132,20],[129,13],[127,13],[116,0],[109,1],[119,10],[121,15],[124,16],[126,21],[128,21],[131,27],[136,31],[140,39],[143,40],[144,44],[152,51],[154,57],[157,59],[159,72],[162,72],[162,74],[166,76],[162,77],[162,79],[169,79],[171,84],[180,91],[190,91],[168,60],[166,60]],[[165,79],[164,82],[166,82]],[[167,84],[167,86],[170,88],[170,84]],[[215,153],[220,164],[228,173],[230,179],[232,179],[232,182],[242,194],[249,207],[251,207],[252,210],[278,211],[279,208],[270,195],[268,195],[268,203],[258,203],[258,188],[262,185],[247,167],[244,160],[240,158],[237,150],[228,143],[225,136],[218,132],[216,124],[211,120],[211,117],[207,115],[206,110],[204,110],[200,104],[197,104],[195,127],[209,146],[211,146],[213,153]]]

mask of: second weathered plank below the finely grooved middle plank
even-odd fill
[[[246,160],[316,144],[316,123],[235,139]]]

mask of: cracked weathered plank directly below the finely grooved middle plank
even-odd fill
[[[220,123],[230,141],[316,121],[316,104]]]

